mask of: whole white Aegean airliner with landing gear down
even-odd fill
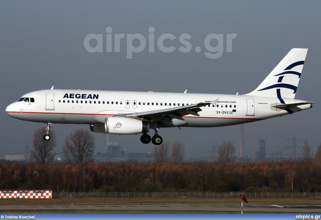
[[[218,127],[254,122],[312,108],[294,99],[308,49],[294,48],[251,93],[190,94],[53,89],[27,93],[6,108],[13,118],[46,124],[89,124],[92,132],[143,134],[159,145],[163,127]],[[151,138],[147,133],[154,130]]]

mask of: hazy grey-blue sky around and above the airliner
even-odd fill
[[[0,90],[1,151],[21,154],[25,143],[41,123],[9,117],[5,108],[31,91],[50,89],[95,89],[246,94],[253,91],[281,59],[295,47],[308,48],[296,99],[320,102],[321,2],[307,1],[1,1]],[[125,34],[120,53],[106,53],[106,28]],[[154,27],[155,52],[148,52],[148,29]],[[103,52],[89,53],[84,38],[103,34]],[[126,34],[142,34],[146,47],[126,58]],[[160,35],[176,50],[157,48]],[[187,33],[192,50],[182,53],[178,38]],[[204,55],[207,35],[224,35],[224,52],[218,59]],[[237,34],[232,52],[226,52],[226,35]],[[212,43],[211,43],[212,44]],[[92,45],[92,41],[91,41]],[[138,46],[139,41],[134,41]],[[201,47],[196,53],[195,47]],[[215,46],[215,43],[213,43]],[[114,49],[113,49],[114,51]],[[244,125],[245,148],[259,139],[278,145],[295,135],[315,149],[321,143],[320,104],[281,118]],[[59,151],[64,138],[89,125],[53,125]],[[217,128],[160,129],[164,140],[182,141],[187,150],[221,141],[239,146],[240,126]],[[152,133],[151,133],[152,134]],[[106,134],[94,134],[96,151],[104,151]],[[109,135],[130,152],[151,151],[140,135]],[[189,154],[189,152],[187,152]]]

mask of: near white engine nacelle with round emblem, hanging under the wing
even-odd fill
[[[133,118],[105,118],[105,132],[108,134],[140,134],[149,132],[149,122]]]

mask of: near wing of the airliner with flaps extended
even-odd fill
[[[144,111],[144,112],[137,112],[137,113],[123,113],[117,114],[114,117],[128,117],[128,118],[143,118],[150,121],[160,121],[163,124],[173,122],[172,119],[176,118],[178,120],[185,121],[182,116],[185,115],[195,115],[199,116],[197,112],[202,111],[200,107],[206,105],[216,104],[216,99],[212,102],[200,102],[191,105],[179,106],[174,108],[168,109],[161,109],[161,110],[152,110],[152,111]]]

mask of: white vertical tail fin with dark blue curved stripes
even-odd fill
[[[293,48],[253,92],[245,95],[294,99],[308,49]]]

